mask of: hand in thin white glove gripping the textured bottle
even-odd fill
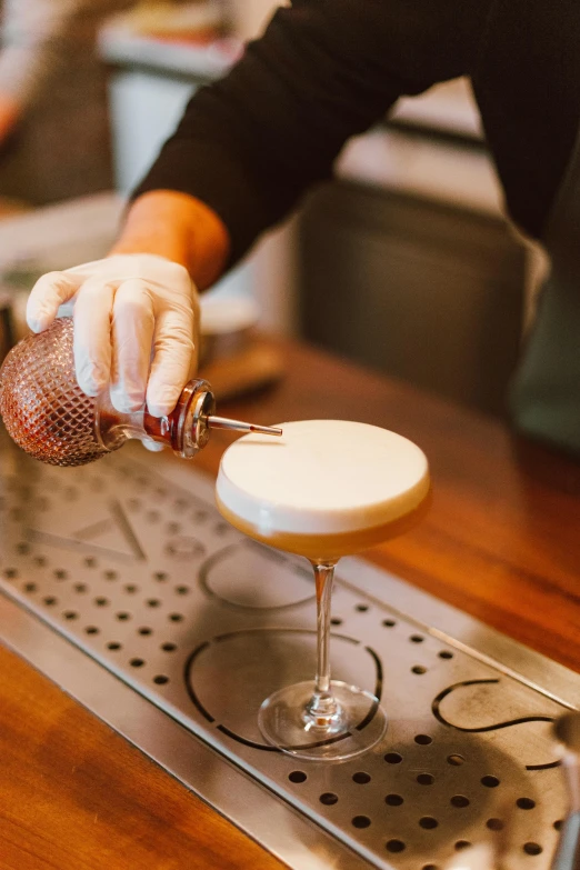
[[[130,253],[49,272],[30,293],[28,326],[42,332],[58,313],[74,317],[74,367],[87,396],[110,386],[118,411],[146,400],[153,417],[173,410],[198,366],[198,293],[184,267]]]

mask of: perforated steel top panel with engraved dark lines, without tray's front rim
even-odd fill
[[[382,686],[386,738],[342,764],[271,751],[260,702],[313,673],[306,562],[224,523],[201,474],[192,494],[120,456],[67,471],[19,458],[13,471],[1,588],[138,692],[376,867],[443,868],[506,826],[506,867],[549,867],[566,811],[549,734],[562,704],[359,592],[339,566],[333,676]]]

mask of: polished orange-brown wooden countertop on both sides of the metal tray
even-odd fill
[[[429,457],[433,504],[369,553],[409,582],[580,670],[580,463],[500,423],[294,343],[276,389],[220,411],[393,429]],[[198,458],[216,472],[231,437]],[[186,870],[280,863],[0,647],[0,868]]]

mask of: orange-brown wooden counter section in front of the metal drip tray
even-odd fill
[[[281,864],[0,646],[2,870]]]

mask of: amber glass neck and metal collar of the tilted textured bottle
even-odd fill
[[[118,450],[127,440],[137,438],[163,444],[182,459],[190,459],[208,441],[207,418],[214,407],[211,388],[203,380],[189,381],[167,417],[152,417],[146,406],[122,413],[113,408],[106,390],[94,402],[94,431],[97,440],[108,451]]]

